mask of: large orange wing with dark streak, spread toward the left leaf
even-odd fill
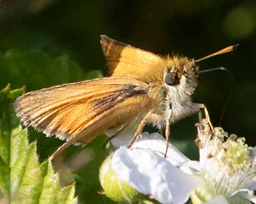
[[[28,92],[14,103],[25,126],[68,140],[79,135],[88,143],[109,128],[143,112],[148,84],[125,77],[106,77]]]

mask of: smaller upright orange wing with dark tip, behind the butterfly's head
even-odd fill
[[[160,74],[166,66],[166,61],[159,55],[131,47],[105,35],[100,37],[111,77],[133,77],[149,82],[156,80],[154,73]]]

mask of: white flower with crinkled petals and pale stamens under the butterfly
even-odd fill
[[[164,158],[166,142],[158,133],[141,137],[131,149],[116,150],[111,161],[118,177],[140,193],[160,203],[186,203],[190,195],[196,204],[256,203],[255,149],[244,138],[221,128],[212,136],[204,122],[198,127],[200,161],[191,161],[172,144]]]

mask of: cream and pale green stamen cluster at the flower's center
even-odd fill
[[[221,194],[226,198],[234,196],[240,189],[247,189],[256,179],[255,155],[244,138],[230,135],[222,128],[209,132],[204,123],[199,138],[201,173],[211,194]]]

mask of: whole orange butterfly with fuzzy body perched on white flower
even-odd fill
[[[100,43],[109,77],[28,92],[14,103],[24,126],[67,140],[50,159],[73,143],[89,143],[113,128],[116,136],[132,124],[138,128],[129,146],[146,123],[165,126],[168,138],[170,123],[204,108],[191,101],[199,75],[195,63],[234,49],[195,61],[178,55],[160,57],[104,35]]]

